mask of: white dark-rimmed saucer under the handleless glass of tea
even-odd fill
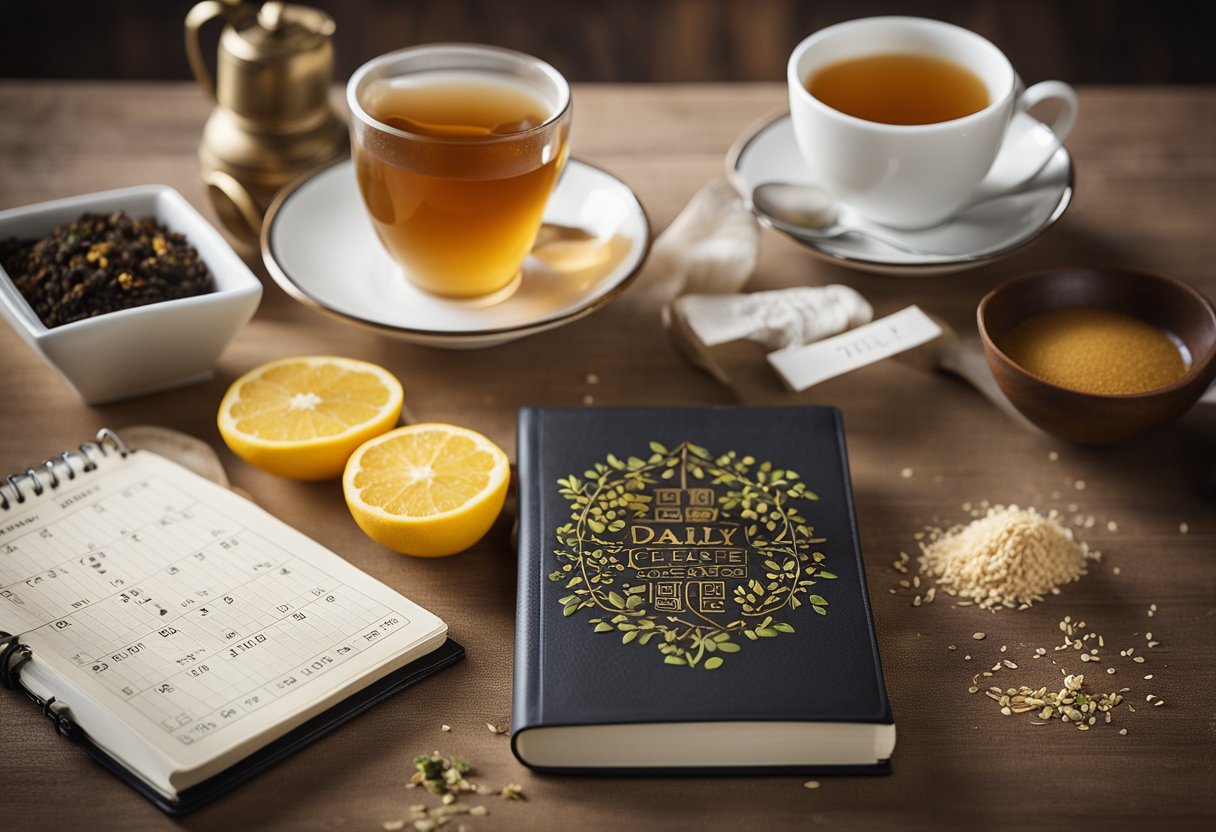
[[[529,255],[518,291],[492,305],[439,298],[416,288],[384,251],[348,161],[275,199],[261,253],[283,291],[319,311],[430,347],[494,347],[591,314],[625,287],[649,252],[651,227],[637,197],[585,162],[567,163],[545,221],[590,231],[607,241],[608,253],[563,270]]]

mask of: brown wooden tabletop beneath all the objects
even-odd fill
[[[578,156],[636,189],[655,229],[722,170],[733,140],[782,107],[776,84],[585,86],[576,90]],[[179,189],[212,215],[196,147],[208,105],[191,85],[0,84],[0,207],[141,182]],[[1119,263],[1192,281],[1216,297],[1216,91],[1081,90],[1069,147],[1076,201],[1059,225],[1007,260],[936,279],[852,272],[771,232],[751,288],[843,282],[878,313],[918,303],[961,330],[998,281],[1077,263]],[[257,258],[250,258],[261,271]],[[231,478],[263,506],[353,563],[428,606],[451,625],[468,659],[361,716],[218,804],[176,823],[192,830],[379,830],[407,817],[418,792],[401,788],[409,758],[434,748],[467,755],[480,782],[523,785],[527,800],[489,802],[471,830],[626,828],[1161,828],[1216,817],[1216,407],[1118,448],[1082,449],[1018,428],[964,383],[886,361],[801,395],[781,388],[760,353],[732,372],[749,404],[823,403],[843,409],[883,664],[899,725],[888,778],[794,777],[584,780],[540,777],[512,758],[485,723],[511,713],[514,553],[505,515],[475,549],[421,561],[370,543],[350,521],[337,483],[275,479],[235,459],[214,416],[227,384],[261,361],[333,353],[377,361],[405,384],[417,420],[477,428],[514,448],[520,405],[714,404],[733,394],[671,349],[658,310],[634,287],[564,328],[486,352],[411,347],[322,317],[272,282],[254,321],[224,354],[213,381],[89,407],[7,328],[0,327],[0,471],[66,448],[98,426],[157,423],[202,437]],[[591,382],[590,373],[598,377]],[[1048,455],[1059,454],[1058,461]],[[912,476],[901,476],[911,468]],[[1075,480],[1087,488],[1076,490]],[[1204,489],[1206,497],[1203,496]],[[913,608],[888,592],[891,561],[913,534],[964,517],[964,501],[1062,507],[1093,515],[1083,538],[1102,564],[1059,597],[1026,612],[990,614],[945,603]],[[1076,504],[1070,510],[1069,504]],[[1118,532],[1107,528],[1108,521]],[[1180,533],[1180,523],[1189,534]],[[1118,567],[1119,573],[1115,573]],[[1150,603],[1156,615],[1145,614]],[[1085,619],[1108,650],[1149,657],[1111,684],[1160,708],[1120,710],[1118,725],[1087,733],[1004,719],[969,696],[972,674],[1008,645],[1028,684],[1058,670],[1032,663],[1059,643],[1057,622]],[[984,642],[972,633],[984,630]],[[1152,630],[1161,645],[1144,646]],[[959,650],[950,651],[947,645]],[[972,660],[966,660],[970,654]],[[1083,665],[1077,669],[1083,670]],[[1152,684],[1141,680],[1152,673]],[[1006,679],[1012,682],[1012,674]],[[450,724],[450,733],[440,732]],[[174,826],[69,742],[28,702],[0,696],[0,817],[6,830]],[[433,799],[433,798],[432,798]]]

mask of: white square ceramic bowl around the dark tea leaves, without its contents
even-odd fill
[[[0,266],[0,311],[88,404],[182,387],[212,376],[221,352],[258,309],[261,282],[202,214],[168,185],[43,202],[0,212],[0,240],[41,238],[81,214],[123,209],[186,236],[214,291],[47,328]]]

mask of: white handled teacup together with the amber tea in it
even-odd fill
[[[810,172],[862,217],[901,229],[948,219],[981,182],[985,191],[1024,184],[1076,120],[1068,84],[1024,89],[990,41],[921,17],[821,29],[794,47],[787,75],[794,136]],[[1048,100],[1057,108],[1051,131],[1014,119]],[[993,165],[998,153],[1008,164]]]

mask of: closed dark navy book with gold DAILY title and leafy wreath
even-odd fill
[[[839,411],[524,409],[518,473],[522,763],[889,771]]]

